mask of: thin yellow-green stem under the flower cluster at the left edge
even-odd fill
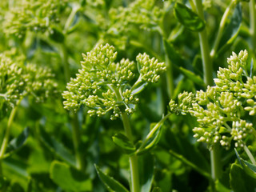
[[[3,140],[2,140],[2,146],[1,146],[1,150],[0,150],[0,176],[2,176],[2,159],[4,158],[4,155],[6,153],[6,148],[8,146],[8,142],[9,142],[9,138],[10,138],[10,126],[14,122],[14,117],[15,117],[15,114],[17,112],[19,103],[21,101],[22,101],[22,99],[20,99],[17,102],[17,105],[14,106],[13,110],[11,110],[10,117],[8,119],[8,122],[7,122],[6,133],[5,133],[5,136],[4,136]]]

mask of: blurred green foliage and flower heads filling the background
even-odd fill
[[[98,43],[114,45],[118,50],[117,60],[130,58],[134,61],[136,55],[143,52],[160,62],[166,62],[170,56],[172,70],[162,75],[158,84],[143,90],[140,104],[130,116],[134,140],[144,138],[150,125],[166,114],[170,98],[177,98],[183,90],[204,89],[200,82],[202,58],[198,33],[186,29],[174,17],[174,2],[190,6],[188,1],[173,0],[0,1],[0,52],[15,50],[15,57],[22,55],[25,58],[24,65],[29,62],[50,68],[55,74],[54,80],[58,82],[58,94],[54,97],[46,102],[24,98],[18,107],[10,130],[10,141],[24,132],[25,127],[28,127],[29,136],[26,145],[3,160],[2,191],[106,191],[94,163],[129,187],[128,156],[122,154],[122,150],[112,141],[115,133],[122,132],[122,122],[119,119],[110,121],[108,114],[101,119],[90,118],[86,114],[86,106],[78,111],[82,140],[78,150],[84,156],[85,169],[79,170],[79,173],[73,170],[72,117],[63,109],[61,93],[66,82],[70,77],[74,78],[81,68],[82,53],[92,50]],[[230,2],[203,1],[210,47],[214,46],[222,14]],[[240,2],[231,11],[227,26],[233,21],[232,17],[242,15],[242,20],[241,23],[234,23],[231,30],[225,29],[226,34],[234,34],[234,38],[230,41],[222,39],[214,56],[215,72],[219,66],[226,66],[226,58],[231,51],[238,53],[246,49],[255,58],[249,8],[248,2]],[[242,12],[236,13],[235,9]],[[170,50],[165,50],[165,41]],[[168,73],[173,74],[173,90],[168,88]],[[9,115],[6,114],[0,124],[1,141]],[[196,120],[189,115],[180,117],[173,114],[163,125],[161,140],[150,151],[155,161],[153,186],[160,187],[162,191],[210,190],[205,174],[210,172],[209,151],[206,145],[193,138],[192,129],[196,124]],[[233,150],[223,153],[226,169],[230,169],[230,162],[234,160]],[[79,177],[86,180],[76,180],[74,176],[74,181],[70,183],[86,187],[70,187],[64,180],[65,175],[54,174],[53,163],[61,167],[59,171],[71,171],[76,176],[82,174]],[[60,183],[60,180],[63,182]],[[230,189],[228,184],[226,189]]]

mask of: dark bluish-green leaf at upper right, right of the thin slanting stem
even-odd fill
[[[240,30],[242,23],[242,7],[240,3],[235,7],[234,14],[230,19],[230,23],[226,26],[221,41],[218,46],[218,54],[221,54],[224,50],[226,50],[234,39],[238,36],[238,32]]]

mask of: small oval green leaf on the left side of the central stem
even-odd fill
[[[113,137],[113,142],[119,146],[126,154],[133,154],[136,150],[136,147],[129,138],[123,134],[115,134]]]

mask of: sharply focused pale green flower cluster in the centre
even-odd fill
[[[136,94],[149,82],[157,82],[159,74],[166,70],[164,63],[146,54],[138,54],[137,65],[125,58],[116,63],[117,52],[109,44],[97,45],[82,56],[82,69],[76,78],[71,78],[62,94],[66,100],[64,107],[76,111],[85,105],[90,108],[90,115],[98,116],[112,110],[111,119],[122,112],[131,114],[138,103]],[[135,82],[136,66],[139,77]]]

